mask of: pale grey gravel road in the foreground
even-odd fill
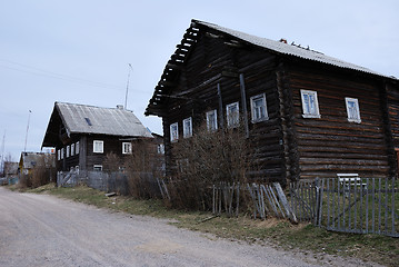
[[[319,258],[319,259],[316,259]],[[367,266],[280,251],[0,187],[0,266]],[[375,265],[373,265],[375,266]]]

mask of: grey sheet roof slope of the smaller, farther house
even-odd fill
[[[67,102],[56,102],[56,108],[69,134],[152,137],[130,110]]]

